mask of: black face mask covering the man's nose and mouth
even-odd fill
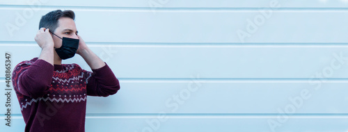
[[[52,34],[56,35],[54,33]],[[58,35],[56,36],[60,38]],[[60,39],[63,40],[62,46],[58,49],[54,48],[58,56],[63,60],[74,57],[77,49],[79,49],[79,40],[73,39],[73,38],[65,38],[65,37]]]

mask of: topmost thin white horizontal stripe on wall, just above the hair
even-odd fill
[[[38,8],[37,8],[38,7]],[[348,13],[345,8],[128,8],[127,7],[88,7],[77,6],[28,6],[0,7],[0,10],[53,10],[106,11],[123,13],[260,13],[260,10],[273,10],[274,13]],[[256,10],[255,10],[256,9]],[[342,10],[344,9],[344,10]]]

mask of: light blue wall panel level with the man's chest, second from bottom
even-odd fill
[[[87,113],[348,113],[348,81],[125,81],[110,97],[88,97]],[[1,83],[4,85],[3,83]],[[319,87],[318,87],[319,86]],[[1,90],[1,92],[4,92]],[[13,91],[14,92],[14,91]],[[5,97],[3,97],[5,98]],[[1,111],[5,113],[5,102]],[[294,110],[291,108],[294,107]],[[13,94],[13,113],[20,114]]]

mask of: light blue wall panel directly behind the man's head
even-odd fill
[[[348,27],[333,26],[348,23],[348,10],[158,10],[154,14],[146,9],[66,9],[75,10],[77,30],[86,42],[348,41]],[[54,8],[0,8],[6,18],[0,21],[6,29],[1,30],[0,41],[33,42],[40,17],[50,10]]]

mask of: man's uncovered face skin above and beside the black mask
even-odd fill
[[[54,31],[54,34],[58,35],[60,38],[74,38],[77,37],[77,28],[73,19],[69,17],[61,17],[58,19],[58,27]],[[54,41],[54,47],[60,48],[62,46],[62,40],[56,35],[52,35]]]

